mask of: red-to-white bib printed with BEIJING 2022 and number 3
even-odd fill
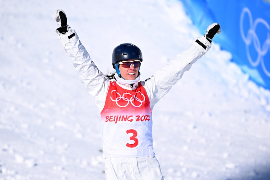
[[[153,156],[152,111],[148,95],[138,83],[126,90],[111,82],[101,111],[103,156]]]

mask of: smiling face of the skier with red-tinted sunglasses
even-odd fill
[[[125,80],[135,80],[139,73],[140,64],[139,60],[134,59],[120,62],[119,71],[122,78]]]

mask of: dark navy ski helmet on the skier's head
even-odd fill
[[[118,45],[112,52],[112,67],[115,69],[115,64],[122,60],[139,59],[143,61],[141,50],[134,44],[124,43]]]

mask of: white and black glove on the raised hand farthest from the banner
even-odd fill
[[[57,9],[54,13],[53,13],[53,19],[56,21],[57,26],[59,28],[57,28],[57,30],[62,33],[65,34],[66,32],[68,32],[67,30],[67,17],[65,12],[62,9]]]

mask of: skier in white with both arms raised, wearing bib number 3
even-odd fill
[[[102,157],[106,180],[163,179],[153,152],[152,110],[154,105],[210,48],[220,25],[208,26],[204,36],[178,54],[152,77],[140,81],[141,50],[134,44],[118,45],[112,52],[113,74],[104,75],[91,60],[74,29],[67,25],[63,10],[53,13],[56,33],[101,113]]]

